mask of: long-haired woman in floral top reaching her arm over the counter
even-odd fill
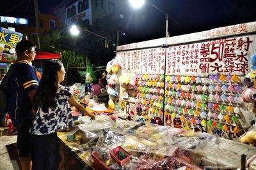
[[[60,85],[65,78],[65,68],[60,60],[45,62],[43,75],[33,101],[35,120],[31,127],[32,169],[58,169],[61,160],[57,131],[72,125],[70,103],[94,119],[79,104],[68,87]]]

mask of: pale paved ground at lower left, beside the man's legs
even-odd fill
[[[3,136],[0,136],[0,169],[20,170],[20,162],[17,154],[17,135],[7,136],[8,129],[5,129]]]

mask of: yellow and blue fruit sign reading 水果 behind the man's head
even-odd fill
[[[13,62],[16,60],[15,46],[21,41],[23,34],[0,27],[0,60]]]

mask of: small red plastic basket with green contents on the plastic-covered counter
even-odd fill
[[[124,153],[125,157],[124,159],[118,159],[118,151]],[[126,162],[128,162],[131,159],[131,154],[124,150],[121,146],[117,146],[116,148],[113,148],[110,152],[111,157],[120,165],[123,166]]]

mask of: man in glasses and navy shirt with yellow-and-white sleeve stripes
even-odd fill
[[[20,164],[22,169],[31,169],[31,145],[29,129],[32,125],[32,104],[38,87],[38,78],[35,70],[30,65],[35,59],[35,45],[30,41],[23,40],[16,46],[17,60],[8,82],[8,113],[13,124],[18,129],[17,149],[19,150]]]

